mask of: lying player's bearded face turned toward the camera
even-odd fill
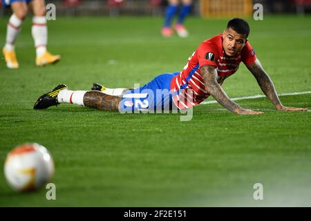
[[[223,49],[228,56],[234,56],[240,52],[246,41],[246,35],[238,34],[232,28],[226,29],[223,32]]]

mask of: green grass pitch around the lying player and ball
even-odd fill
[[[30,21],[17,40],[20,68],[0,62],[0,206],[311,206],[310,112],[274,111],[266,98],[238,101],[264,115],[202,104],[189,122],[179,114],[122,115],[64,104],[32,110],[59,83],[73,90],[93,82],[132,87],[180,71],[227,19],[190,18],[189,38],[163,39],[159,17],[57,17],[48,22],[48,48],[62,61],[45,68],[35,67]],[[311,17],[248,21],[249,41],[278,93],[310,91]],[[0,20],[3,44],[6,22]],[[230,97],[262,94],[243,64],[224,88]],[[310,94],[281,101],[311,108]],[[6,154],[24,142],[53,154],[57,200],[46,200],[46,189],[19,194],[6,184]],[[263,200],[253,198],[255,183],[263,184]]]

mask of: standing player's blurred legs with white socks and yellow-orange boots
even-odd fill
[[[6,45],[3,48],[3,55],[6,59],[8,68],[18,68],[19,64],[15,54],[15,41],[21,24],[26,18],[29,8],[32,10],[32,37],[35,41],[36,48],[36,64],[37,66],[44,66],[46,64],[53,64],[59,61],[59,55],[50,55],[46,50],[48,42],[48,30],[46,27],[46,6],[44,0],[11,0],[10,7],[12,9],[12,16],[8,21],[8,28],[6,33]]]

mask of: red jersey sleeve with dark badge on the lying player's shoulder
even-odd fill
[[[218,58],[218,50],[216,46],[209,42],[203,42],[200,44],[196,52],[200,67],[205,65],[217,66],[216,59]]]

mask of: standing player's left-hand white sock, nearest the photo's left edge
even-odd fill
[[[19,19],[16,15],[12,15],[8,21],[8,28],[6,30],[6,50],[12,51],[15,49],[15,40],[19,34],[21,23],[23,20]]]

